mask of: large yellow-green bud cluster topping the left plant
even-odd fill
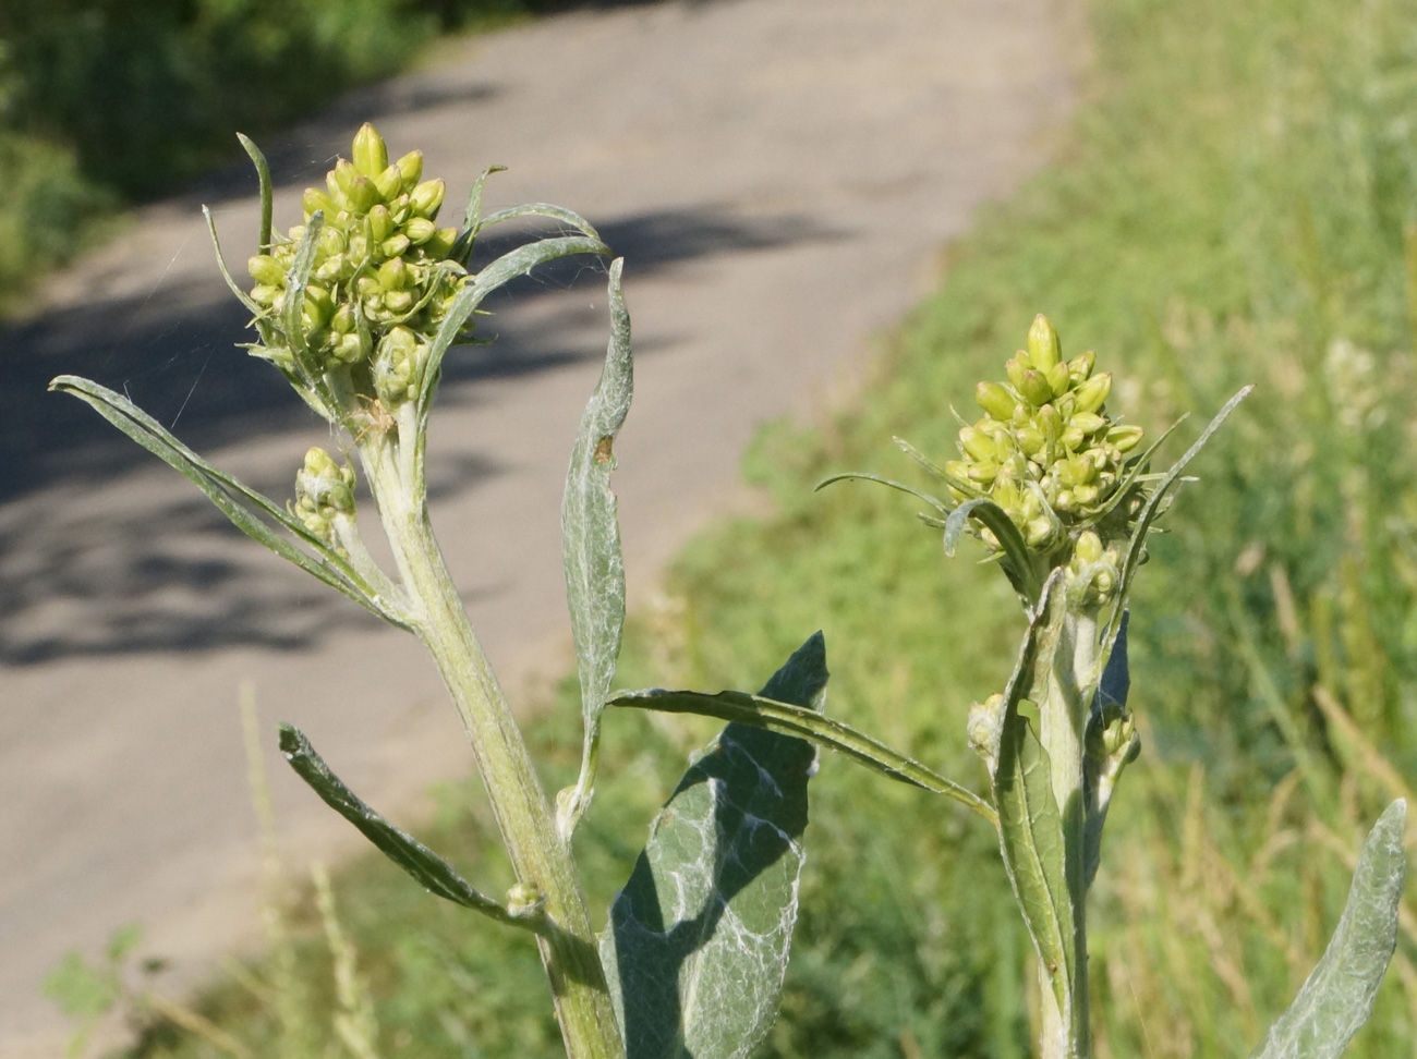
[[[445,187],[422,180],[422,153],[390,163],[384,139],[366,123],[351,156],[334,164],[324,188],[306,188],[305,224],[248,262],[251,297],[279,327],[300,241],[316,212],[323,215],[300,311],[303,341],[285,336],[286,348],[259,353],[288,371],[298,347],[319,371],[370,362],[376,395],[398,402],[415,388],[466,270],[449,261],[458,232],[436,224]]]

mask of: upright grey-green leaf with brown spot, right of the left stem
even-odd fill
[[[565,602],[581,677],[581,716],[585,725],[581,776],[561,807],[561,834],[570,837],[595,791],[601,743],[601,714],[615,678],[621,633],[625,629],[625,559],[611,471],[615,437],[629,412],[635,367],[629,344],[629,311],[621,296],[623,261],[611,265],[611,341],[595,394],[585,406],[571,450],[561,501],[561,551]]]

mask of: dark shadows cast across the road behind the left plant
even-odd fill
[[[711,208],[625,217],[601,235],[643,276],[694,261],[839,238],[802,217],[740,219]],[[478,262],[524,234],[493,232]],[[476,262],[475,262],[476,265]],[[587,276],[585,273],[591,273]],[[584,316],[512,313],[512,303],[598,290],[604,262],[538,268],[490,300],[483,333],[503,340],[455,351],[444,387],[533,375],[599,357]],[[373,622],[303,579],[272,575],[255,549],[196,493],[152,507],[85,511],[75,501],[152,457],[78,401],[45,392],[50,378],[88,375],[126,392],[193,447],[298,430],[309,411],[266,364],[245,355],[245,311],[211,282],[164,283],[145,299],[96,302],[0,333],[0,664],[68,656],[201,650],[232,644],[300,648]],[[640,348],[639,353],[646,353]],[[653,354],[653,351],[649,351]],[[176,425],[176,426],[174,426]],[[432,488],[456,494],[500,473],[476,454],[439,459]],[[252,481],[281,497],[289,483]],[[94,504],[88,504],[94,508]],[[278,573],[283,575],[283,571]]]

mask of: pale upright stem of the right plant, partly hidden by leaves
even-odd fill
[[[1084,832],[1087,821],[1083,777],[1084,738],[1097,688],[1097,613],[1091,609],[1068,613],[1039,704],[1039,742],[1049,753],[1053,797],[1063,815],[1067,849],[1067,882],[1073,903],[1073,943],[1077,974],[1071,983],[1073,1009],[1058,1011],[1051,987],[1043,977],[1043,1059],[1085,1059],[1091,1055],[1090,1000],[1087,988],[1087,879]]]

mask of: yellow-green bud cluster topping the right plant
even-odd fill
[[[961,459],[945,464],[956,500],[988,497],[1030,548],[1047,554],[1066,554],[1083,528],[1112,510],[1127,454],[1142,439],[1139,426],[1107,415],[1112,377],[1094,372],[1094,361],[1093,353],[1063,360],[1057,331],[1039,316],[1027,350],[1005,365],[1007,381],[975,389],[985,415],[959,432]],[[1121,520],[1131,514],[1124,510]]]

